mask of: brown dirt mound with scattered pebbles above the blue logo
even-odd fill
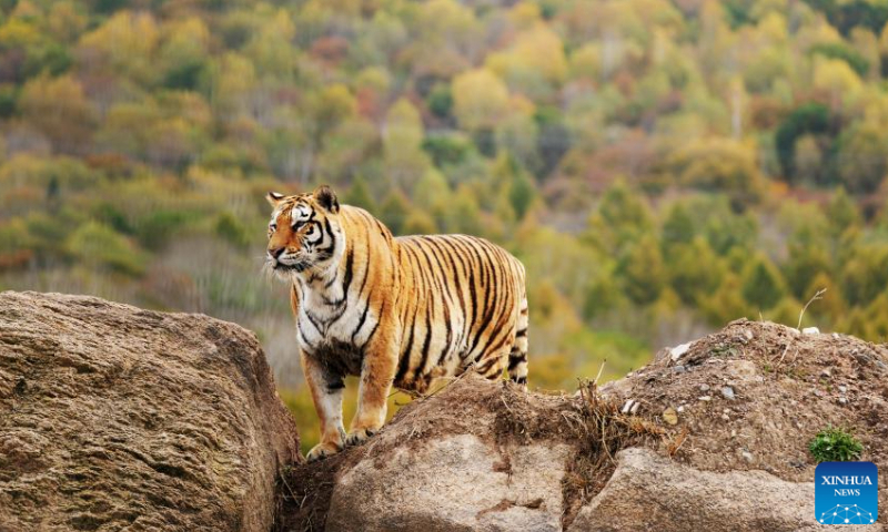
[[[675,444],[674,460],[707,471],[755,469],[811,481],[816,463],[808,443],[831,426],[860,440],[861,460],[888,464],[885,345],[741,319],[686,346],[684,354],[662,350],[650,365],[602,389],[624,406],[638,402],[639,415],[660,421],[673,409],[677,423],[664,423],[659,450]]]

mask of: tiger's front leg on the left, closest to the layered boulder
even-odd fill
[[[342,390],[345,383],[341,376],[332,375],[305,351],[301,352],[300,358],[317,419],[321,420],[321,442],[305,454],[307,461],[313,462],[342,450],[345,436],[342,427]]]

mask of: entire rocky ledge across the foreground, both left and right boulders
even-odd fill
[[[738,320],[601,388],[467,375],[304,464],[252,332],[0,294],[0,532],[814,530],[830,426],[888,466],[888,347]]]

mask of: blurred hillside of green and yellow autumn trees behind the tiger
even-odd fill
[[[329,183],[396,233],[522,258],[532,386],[740,316],[795,326],[820,288],[805,325],[884,341],[886,21],[886,0],[0,0],[0,288],[238,321],[296,388],[262,196]]]

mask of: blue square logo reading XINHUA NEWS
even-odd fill
[[[879,472],[872,462],[823,462],[815,470],[814,511],[823,524],[872,524]]]

